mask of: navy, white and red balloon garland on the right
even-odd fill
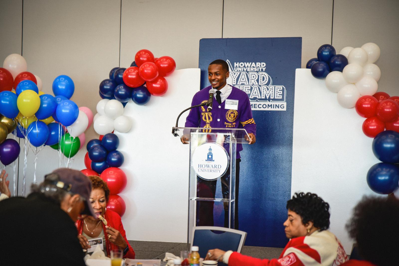
[[[378,45],[365,43],[360,48],[345,47],[336,55],[335,48],[325,44],[306,68],[315,78],[326,79],[326,87],[338,93],[342,107],[355,107],[366,118],[363,133],[374,138],[373,153],[382,161],[367,172],[367,184],[376,193],[394,192],[399,198],[399,96],[377,92],[381,70],[374,63],[380,53]]]

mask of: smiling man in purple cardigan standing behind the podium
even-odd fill
[[[207,106],[200,106],[190,110],[186,119],[185,127],[206,127],[206,128],[244,128],[249,135],[247,141],[254,144],[256,141],[256,124],[252,116],[251,104],[248,95],[229,84],[229,66],[221,59],[217,59],[208,66],[208,79],[211,86],[197,92],[192,100],[192,106],[207,102],[209,91],[213,88],[213,106],[211,110]],[[188,144],[188,139],[182,137],[182,143]],[[240,151],[243,150],[242,144],[237,144],[236,154],[236,176],[235,176],[235,224],[238,229],[238,191],[239,191],[239,170],[240,170]],[[221,188],[223,198],[229,197],[229,173],[221,177]],[[198,188],[197,197],[214,198],[216,193],[216,180],[209,181],[197,178]],[[206,189],[203,189],[203,188]],[[225,219],[224,226],[229,227],[228,205],[224,205]],[[197,226],[213,226],[213,201],[197,202]]]

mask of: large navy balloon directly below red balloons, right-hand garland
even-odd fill
[[[386,130],[378,133],[373,140],[373,153],[381,162],[399,162],[399,133]]]

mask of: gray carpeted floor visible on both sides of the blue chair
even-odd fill
[[[165,252],[180,256],[187,249],[187,243],[129,241],[136,252],[136,259],[163,259]],[[265,248],[261,246],[243,246],[241,253],[256,258],[278,258],[283,248]]]

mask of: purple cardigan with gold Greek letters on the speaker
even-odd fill
[[[231,85],[230,85],[231,86]],[[191,106],[206,102],[209,98],[209,90],[212,86],[208,86],[197,92],[192,100]],[[226,100],[238,100],[237,110],[225,109]],[[207,127],[211,128],[245,128],[248,133],[256,136],[256,124],[253,120],[251,104],[248,95],[232,86],[231,93],[225,101],[219,104],[213,99],[212,110],[207,111],[207,106],[200,106],[190,110],[187,116],[185,127]],[[243,145],[237,143],[237,155],[240,157],[240,151]]]

